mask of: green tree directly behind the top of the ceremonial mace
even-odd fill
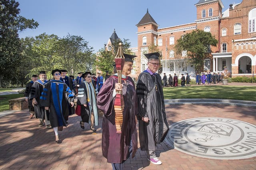
[[[129,49],[131,45],[130,45],[130,42],[128,42],[128,41],[129,41],[129,39],[123,39],[123,41],[121,39],[115,39],[112,44],[113,51],[106,51],[105,48],[100,49],[97,54],[97,59],[95,62],[98,70],[102,70],[103,72],[105,72],[107,70],[109,72],[112,72],[114,70],[113,63],[115,62],[114,58],[116,57],[119,43],[122,43],[123,53],[132,54],[131,50]],[[103,73],[103,75],[104,75],[104,73]]]

